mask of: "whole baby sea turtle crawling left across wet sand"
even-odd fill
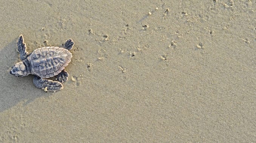
[[[73,45],[72,39],[68,39],[63,48],[42,47],[28,54],[23,36],[20,35],[17,46],[22,61],[12,66],[10,74],[16,77],[23,77],[29,74],[35,75],[33,80],[35,87],[42,88],[46,92],[56,92],[63,89],[62,83],[67,81],[69,76],[64,68],[71,61],[72,57],[68,50],[71,50]],[[45,79],[54,76],[56,76],[57,81]]]

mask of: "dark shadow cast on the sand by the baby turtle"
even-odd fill
[[[34,86],[34,75],[15,77],[9,74],[11,66],[20,61],[19,54],[16,52],[17,39],[14,39],[4,48],[0,48],[0,112],[21,101],[25,102],[24,105],[26,105],[40,96],[52,95]]]

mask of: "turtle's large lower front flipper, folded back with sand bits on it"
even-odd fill
[[[63,85],[59,81],[43,79],[36,75],[34,76],[33,83],[35,84],[35,87],[41,88],[45,90],[45,92],[56,92],[57,90],[63,89]]]

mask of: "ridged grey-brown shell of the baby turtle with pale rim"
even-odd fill
[[[34,50],[28,57],[31,74],[40,78],[58,75],[71,61],[72,54],[61,47],[42,47]]]

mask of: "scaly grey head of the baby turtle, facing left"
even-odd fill
[[[10,74],[15,75],[16,77],[23,77],[28,75],[28,72],[25,64],[23,62],[19,62],[12,66]]]

